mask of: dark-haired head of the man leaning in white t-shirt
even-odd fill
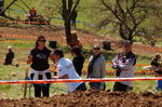
[[[64,52],[60,49],[56,49],[52,55],[53,55],[53,59],[55,62],[58,62],[62,57],[64,57]]]

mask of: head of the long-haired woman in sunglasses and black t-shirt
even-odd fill
[[[39,36],[38,39],[36,40],[36,48],[39,46],[45,46],[45,37],[44,36]]]

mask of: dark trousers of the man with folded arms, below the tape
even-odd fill
[[[120,82],[116,82],[114,85],[113,85],[113,91],[127,92],[127,91],[132,91],[132,90],[133,90],[132,86],[122,84]]]

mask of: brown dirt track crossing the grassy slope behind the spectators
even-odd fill
[[[103,37],[95,34],[90,34],[86,31],[77,31],[79,41],[84,44],[94,44],[102,41],[112,42],[112,49],[119,48],[119,41],[116,38]],[[48,40],[56,40],[58,43],[66,43],[66,38],[63,27],[54,26],[30,26],[24,28],[11,28],[11,27],[0,27],[0,39],[18,39],[18,40],[36,40],[40,35],[43,35]],[[8,35],[8,36],[4,36]],[[161,48],[152,48],[145,44],[134,44],[133,51],[140,55],[154,55],[156,53],[162,53]]]

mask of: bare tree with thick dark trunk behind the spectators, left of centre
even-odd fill
[[[72,45],[73,39],[71,35],[71,24],[70,21],[73,16],[75,11],[77,11],[80,0],[42,0],[42,8],[46,10],[55,11],[53,14],[59,14],[63,17],[65,26],[66,42]],[[53,5],[51,5],[53,4]]]

